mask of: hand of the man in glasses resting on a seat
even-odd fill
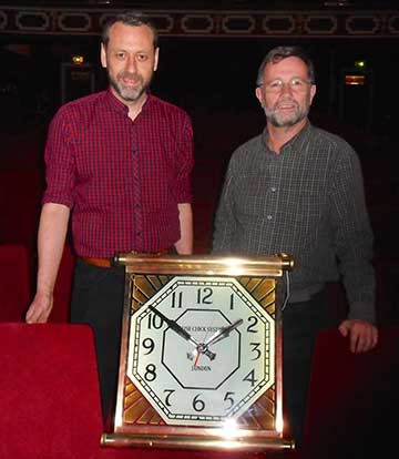
[[[349,335],[351,353],[367,353],[377,346],[378,329],[369,322],[347,319],[338,329],[342,336]]]

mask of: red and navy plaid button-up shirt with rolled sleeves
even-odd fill
[[[187,114],[154,95],[132,121],[110,90],[63,105],[45,146],[44,203],[72,208],[80,256],[153,253],[180,238],[178,203],[191,202]]]

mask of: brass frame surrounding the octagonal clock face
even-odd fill
[[[294,449],[290,438],[285,436],[283,421],[283,332],[279,308],[276,307],[276,286],[284,272],[294,267],[293,259],[280,254],[276,256],[232,257],[215,255],[141,255],[120,254],[115,264],[125,266],[125,297],[123,309],[120,370],[116,404],[111,431],[103,432],[101,445],[105,447],[172,448],[193,450],[234,450],[264,452],[267,450]],[[231,431],[221,427],[166,425],[127,377],[130,346],[130,323],[135,310],[153,294],[142,294],[136,284],[143,276],[151,276],[161,286],[178,276],[224,277],[237,279],[258,304],[267,309],[275,326],[275,382],[253,406],[259,405],[265,416],[252,415],[239,418]],[[260,285],[260,288],[257,288]],[[265,286],[267,298],[265,296]],[[258,290],[258,294],[254,293]],[[260,293],[259,293],[260,292]],[[132,416],[132,400],[134,408]],[[130,406],[130,407],[129,407]],[[140,412],[137,411],[140,410]],[[255,410],[256,411],[256,410]],[[239,420],[238,419],[238,420]]]

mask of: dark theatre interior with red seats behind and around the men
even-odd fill
[[[49,121],[61,104],[106,86],[99,59],[100,17],[129,8],[149,12],[160,28],[152,91],[192,118],[196,254],[211,251],[232,152],[264,128],[254,82],[270,48],[300,44],[310,52],[317,80],[310,120],[346,139],[359,155],[375,234],[380,341],[368,354],[352,355],[336,329],[320,334],[301,450],[101,448],[92,335],[68,324],[70,243],[49,323],[23,323],[35,287]],[[398,457],[397,2],[6,0],[0,2],[0,458]],[[344,317],[340,284],[328,288],[334,313]]]

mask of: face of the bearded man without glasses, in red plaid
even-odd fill
[[[120,101],[136,102],[150,86],[158,59],[153,39],[147,26],[116,22],[111,27],[108,45],[101,45],[101,63]]]

